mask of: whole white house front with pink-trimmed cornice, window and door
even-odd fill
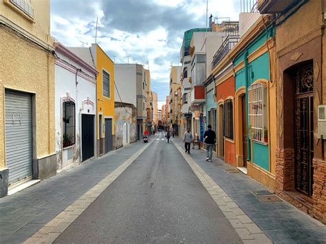
[[[55,43],[55,119],[57,170],[96,155],[96,75],[61,43]]]

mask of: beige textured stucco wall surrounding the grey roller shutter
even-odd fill
[[[3,6],[1,6],[3,7]],[[5,166],[4,89],[36,98],[36,154],[54,153],[54,56],[0,27],[0,168]]]

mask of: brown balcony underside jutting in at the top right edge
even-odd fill
[[[298,0],[258,0],[258,10],[261,14],[281,13],[296,2]]]

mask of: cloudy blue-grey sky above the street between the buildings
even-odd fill
[[[208,0],[208,15],[238,19],[240,0]],[[52,0],[51,33],[67,46],[97,42],[116,63],[151,71],[159,107],[169,93],[169,72],[180,65],[186,30],[206,27],[206,0]]]

